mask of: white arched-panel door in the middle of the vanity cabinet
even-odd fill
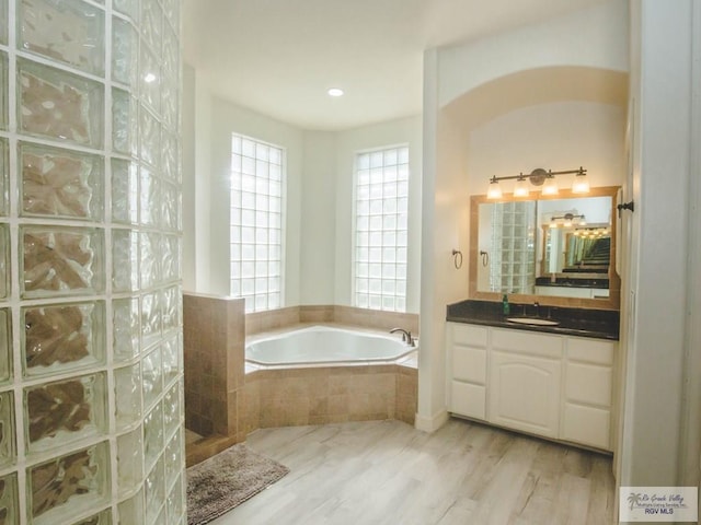
[[[492,352],[489,381],[490,421],[558,438],[561,361]]]

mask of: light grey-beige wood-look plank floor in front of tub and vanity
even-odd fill
[[[452,419],[258,430],[290,474],[212,525],[613,523],[611,458]]]

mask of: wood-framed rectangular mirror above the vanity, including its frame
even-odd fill
[[[618,310],[619,187],[535,199],[473,196],[470,298]]]

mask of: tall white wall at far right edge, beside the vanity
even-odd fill
[[[699,482],[698,10],[691,0],[634,2],[622,486]]]

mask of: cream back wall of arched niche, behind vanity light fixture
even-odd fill
[[[472,129],[466,140],[470,191],[486,194],[492,175],[528,174],[537,167],[584,166],[590,186],[624,180],[625,108],[595,102],[558,102],[510,112]],[[562,188],[573,176],[556,177]],[[501,184],[513,191],[514,182]],[[531,189],[537,189],[531,186]]]

